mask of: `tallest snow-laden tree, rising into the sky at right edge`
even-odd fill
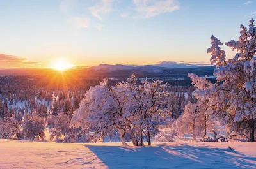
[[[249,29],[240,26],[238,41],[231,40],[225,45],[237,50],[233,59],[225,58],[223,43],[211,36],[211,64],[216,64],[214,75],[217,82],[212,84],[206,78],[188,74],[197,88],[196,98],[207,102],[209,119],[226,125],[230,138],[244,136],[255,142],[256,119],[256,28],[250,20]]]

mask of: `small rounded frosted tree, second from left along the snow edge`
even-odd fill
[[[33,114],[26,114],[22,124],[22,133],[28,140],[35,140],[45,138],[45,120],[40,117],[37,112]]]

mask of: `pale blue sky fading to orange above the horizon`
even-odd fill
[[[0,68],[208,62],[250,18],[256,0],[0,0]]]

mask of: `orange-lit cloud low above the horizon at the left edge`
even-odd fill
[[[19,68],[38,64],[39,62],[31,62],[24,57],[17,57],[13,55],[0,54],[0,68]]]

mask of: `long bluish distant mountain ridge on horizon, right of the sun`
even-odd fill
[[[170,64],[171,63],[171,64]],[[159,66],[161,65],[161,66]],[[185,75],[188,73],[196,73],[198,75],[212,75],[214,66],[196,66],[196,65],[179,65],[175,62],[161,62],[156,65],[144,65],[144,66],[127,66],[122,64],[110,65],[100,64],[98,66],[92,66],[86,68],[84,72],[88,75],[96,77],[129,77],[132,73],[135,73],[138,77],[156,77],[156,76],[170,76],[170,75]],[[168,66],[173,67],[168,67]]]

